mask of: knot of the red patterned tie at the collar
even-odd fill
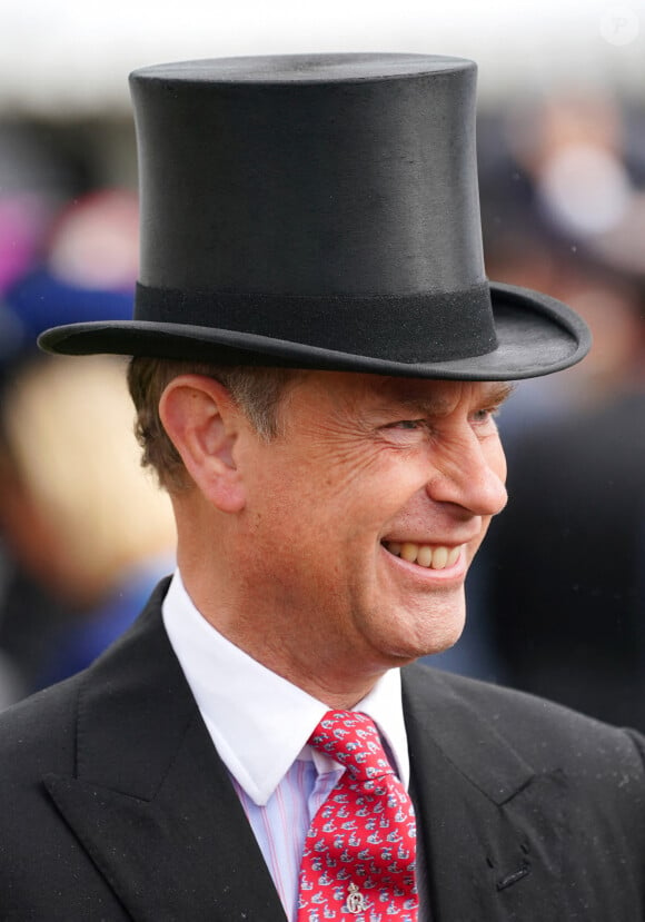
[[[370,781],[394,774],[374,721],[359,711],[328,711],[309,744],[344,765],[353,779]]]

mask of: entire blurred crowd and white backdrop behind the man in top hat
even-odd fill
[[[488,275],[570,304],[595,336],[500,416],[510,503],[464,637],[433,662],[645,730],[645,4],[593,0],[4,0],[0,707],[91,662],[173,565],[122,363],[34,349],[48,326],[130,315],[128,72],[375,50],[478,62]]]

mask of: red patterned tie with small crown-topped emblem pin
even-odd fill
[[[416,922],[416,824],[365,714],[328,711],[309,738],[346,771],[305,841],[298,922]]]

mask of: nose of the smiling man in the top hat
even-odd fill
[[[438,447],[438,446],[437,446]],[[506,459],[497,434],[482,439],[470,427],[435,458],[426,486],[435,503],[493,516],[506,506]]]

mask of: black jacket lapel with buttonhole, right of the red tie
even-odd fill
[[[433,922],[555,922],[560,777],[535,775],[440,673],[405,670],[404,703]]]

